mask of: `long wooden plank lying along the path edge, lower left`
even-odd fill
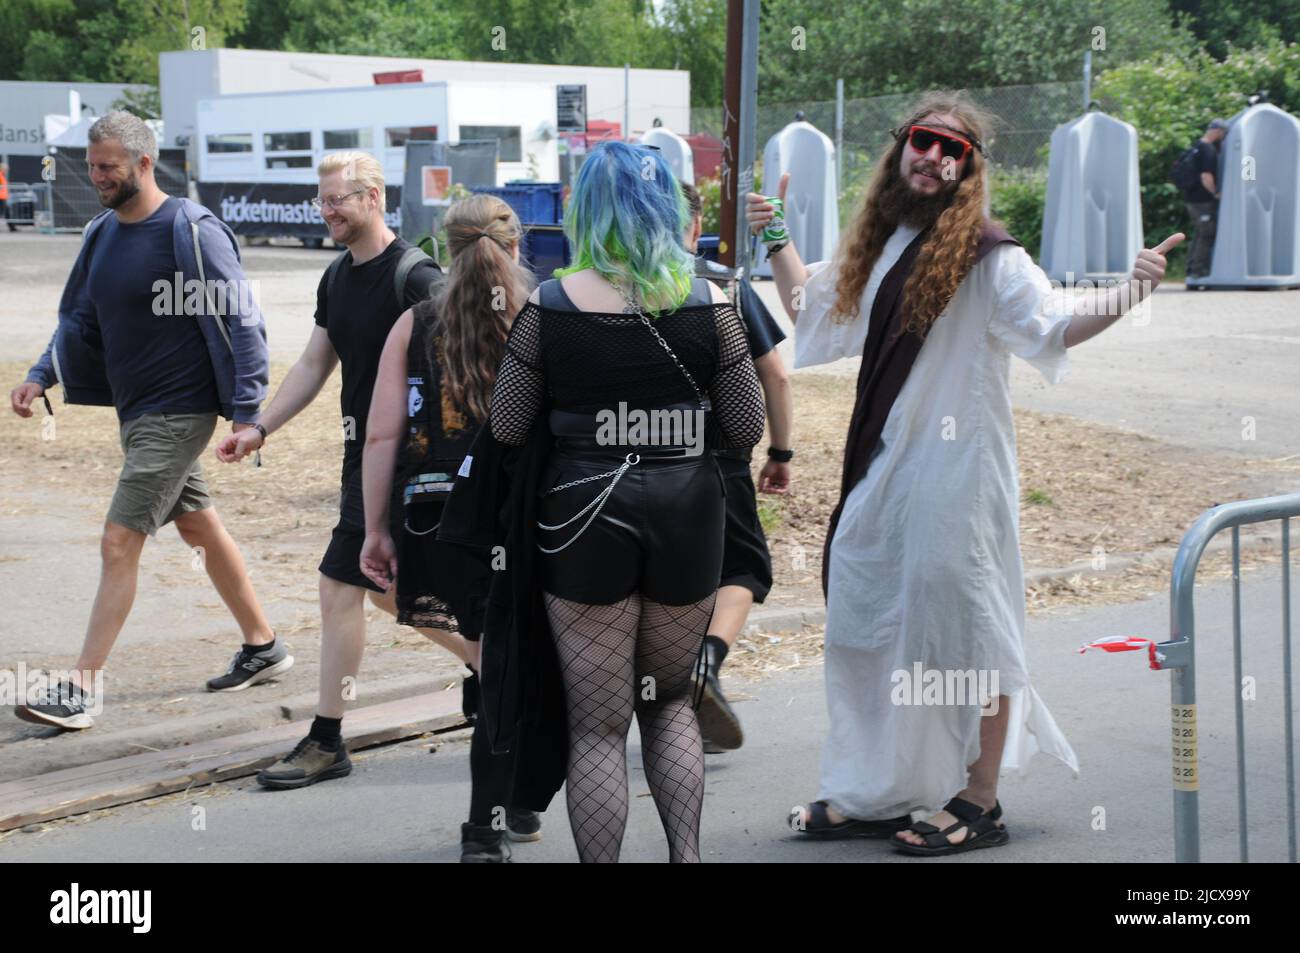
[[[350,750],[359,750],[463,723],[459,693],[433,692],[350,711],[343,737]],[[0,831],[256,774],[282,758],[309,727],[294,722],[5,781]]]

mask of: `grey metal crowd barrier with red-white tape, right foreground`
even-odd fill
[[[1232,529],[1232,662],[1236,686],[1236,787],[1242,862],[1249,861],[1245,826],[1245,728],[1242,711],[1242,542],[1240,528],[1268,520],[1282,523],[1282,677],[1286,706],[1287,859],[1296,862],[1295,751],[1291,725],[1291,517],[1300,516],[1300,493],[1247,499],[1206,510],[1183,536],[1174,558],[1169,593],[1170,641],[1156,646],[1160,670],[1171,675],[1174,762],[1174,859],[1201,859],[1200,779],[1196,728],[1196,616],[1192,605],[1196,569],[1209,541]]]

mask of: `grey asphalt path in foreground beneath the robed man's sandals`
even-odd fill
[[[1292,575],[1296,569],[1292,569]],[[1257,680],[1247,703],[1249,824],[1253,861],[1284,859],[1279,569],[1247,576],[1244,672]],[[1201,732],[1201,842],[1206,861],[1236,859],[1235,749],[1230,588],[1202,589],[1197,602]],[[1028,655],[1039,693],[1079,755],[1075,780],[1039,759],[1000,790],[1013,842],[958,862],[1169,861],[1171,796],[1169,675],[1144,654],[1075,650],[1101,636],[1165,637],[1167,599],[1061,611],[1030,623]],[[749,733],[740,751],[710,757],[702,844],[710,862],[911,861],[885,845],[800,842],[783,827],[793,805],[815,793],[826,718],[822,670],[733,684]],[[629,744],[632,810],[623,857],[666,858],[663,833]],[[445,741],[365,751],[344,780],[296,792],[263,792],[244,780],[51,826],[0,841],[0,861],[416,861],[459,855],[467,809],[468,745]],[[194,829],[195,807],[205,829]],[[1105,829],[1095,829],[1102,816]],[[563,800],[543,819],[543,840],[516,848],[516,861],[573,861]],[[915,861],[924,863],[926,861]]]

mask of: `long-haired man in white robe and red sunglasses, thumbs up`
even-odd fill
[[[1149,295],[1182,235],[1140,252],[1114,289],[1054,291],[984,217],[983,125],[962,98],[926,98],[832,261],[805,265],[789,242],[768,243],[796,367],[864,345],[879,365],[859,377],[824,575],[831,727],[818,798],[792,818],[812,837],[890,837],[918,854],[996,846],[1008,840],[1000,768],[1023,771],[1044,751],[1078,774],[1024,660],[1010,355],[1060,380],[1066,348]],[[754,233],[772,217],[757,194],[746,211]],[[893,312],[874,311],[883,283]],[[897,338],[881,326],[890,320]],[[883,343],[904,338],[904,320],[919,334],[911,358]],[[913,823],[913,811],[933,814]]]

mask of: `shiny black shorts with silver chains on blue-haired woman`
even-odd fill
[[[552,452],[540,494],[560,484],[616,469],[621,456]],[[611,477],[541,495],[537,519],[568,521],[610,485]],[[646,460],[632,465],[582,534],[560,553],[542,554],[542,588],[563,599],[607,606],[641,593],[686,606],[718,589],[723,562],[725,489],[712,455]],[[537,530],[541,546],[571,540],[590,512],[563,529]]]

